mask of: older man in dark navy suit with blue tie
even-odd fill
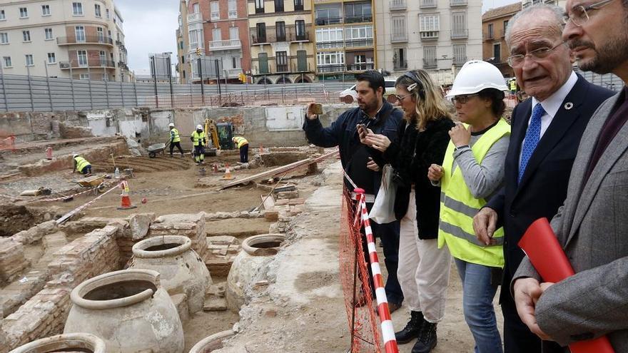
[[[523,324],[507,288],[524,253],[517,246],[527,227],[551,218],[567,195],[567,180],[584,128],[611,91],[572,71],[562,44],[562,10],[532,6],[510,21],[506,41],[510,66],[531,99],[512,111],[512,133],[505,162],[505,187],[474,218],[476,235],[487,245],[503,226],[505,267],[500,304],[506,353],[541,352],[542,342]],[[559,349],[545,345],[544,352]]]

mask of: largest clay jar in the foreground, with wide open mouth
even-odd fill
[[[64,333],[101,337],[106,352],[181,353],[183,327],[153,270],[122,270],[76,286]]]

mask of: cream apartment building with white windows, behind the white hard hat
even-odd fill
[[[402,73],[422,68],[450,85],[465,62],[482,59],[481,0],[375,2],[379,67]]]

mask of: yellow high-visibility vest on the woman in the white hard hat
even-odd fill
[[[510,135],[510,126],[504,119],[485,132],[471,150],[478,163],[482,163],[488,150],[505,135]],[[454,144],[450,141],[442,162],[440,193],[440,223],[438,247],[447,244],[451,255],[466,262],[491,267],[504,267],[504,230],[495,230],[495,245],[485,245],[477,240],[473,231],[473,216],[486,204],[483,198],[475,198],[462,176],[460,166],[452,174]],[[467,152],[468,153],[468,152]]]

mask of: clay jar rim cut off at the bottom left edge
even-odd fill
[[[38,339],[9,353],[88,352],[105,353],[105,342],[93,334],[74,333]]]

